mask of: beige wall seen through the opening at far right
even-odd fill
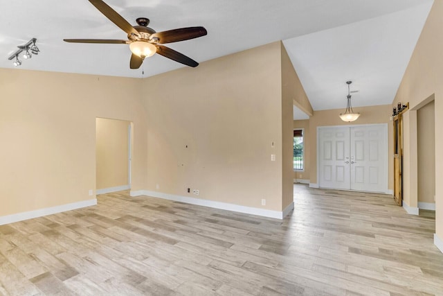
[[[435,195],[435,103],[417,110],[418,201],[434,203]]]

